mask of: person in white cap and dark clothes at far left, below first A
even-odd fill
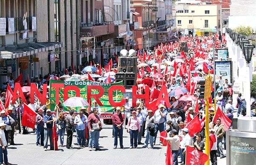
[[[9,118],[12,130],[9,131],[9,138],[8,138],[8,143],[10,143],[10,145],[15,145],[14,143],[14,134],[15,134],[15,125],[16,125],[16,116],[13,113],[13,106],[9,105],[8,107],[8,115],[7,117]]]

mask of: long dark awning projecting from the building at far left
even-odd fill
[[[55,51],[55,48],[61,48],[62,46],[63,43],[59,42],[28,43],[19,44],[17,46],[6,46],[0,49],[0,59],[14,59],[49,50]]]

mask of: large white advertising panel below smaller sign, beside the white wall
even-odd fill
[[[227,79],[229,83],[232,83],[231,61],[216,61],[215,71],[216,75],[222,75],[222,79]]]

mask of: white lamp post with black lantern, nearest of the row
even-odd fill
[[[250,108],[250,61],[253,55],[253,46],[251,44],[244,44],[243,46],[243,54],[246,61],[246,72],[247,72],[247,80],[246,82],[246,92],[245,92],[245,100],[246,100],[246,116],[251,116],[251,108]],[[248,80],[249,79],[249,80]]]

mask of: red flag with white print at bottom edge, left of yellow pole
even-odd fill
[[[186,147],[186,165],[204,165],[209,156],[195,148]]]

